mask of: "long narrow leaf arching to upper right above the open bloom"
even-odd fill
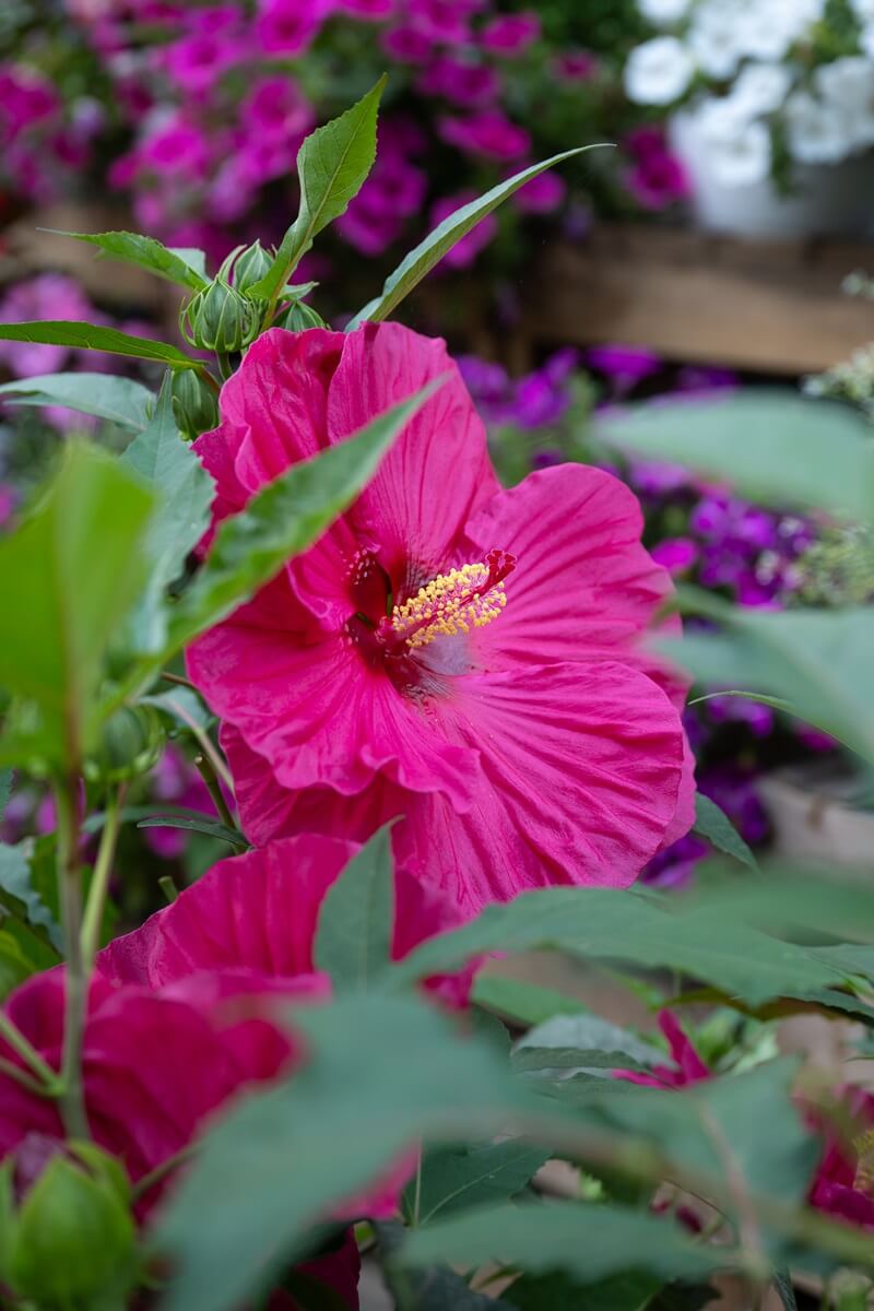
[[[388,319],[390,313],[400,305],[401,300],[409,296],[410,291],[419,284],[422,278],[425,278],[435,265],[440,262],[443,256],[456,245],[461,237],[466,236],[472,228],[476,228],[477,223],[481,223],[493,210],[497,210],[499,205],[503,205],[520,186],[525,182],[531,182],[533,177],[539,177],[540,173],[545,173],[546,169],[554,168],[557,164],[563,164],[565,160],[573,159],[575,155],[583,155],[586,151],[596,149],[594,146],[579,146],[573,151],[562,151],[561,155],[553,155],[552,159],[544,160],[542,164],[532,164],[531,168],[523,169],[520,173],[515,173],[503,182],[498,182],[493,186],[490,191],[485,195],[478,197],[476,201],[470,201],[469,205],[463,205],[453,214],[440,223],[434,232],[421,241],[410,253],[398,264],[397,269],[389,274],[383,286],[383,291],[375,300],[364,305],[354,319],[346,325],[346,332],[352,332],[359,328],[364,321],[381,323],[383,319]]]

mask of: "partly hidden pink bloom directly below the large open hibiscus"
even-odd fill
[[[200,971],[231,970],[290,990],[326,992],[330,983],[316,974],[313,961],[318,915],[328,889],[358,850],[355,843],[303,834],[221,860],[142,928],[104,948],[97,968],[111,983],[155,990]],[[447,898],[397,872],[393,960],[457,923]],[[430,986],[448,1004],[464,1006],[472,977],[473,968]]]

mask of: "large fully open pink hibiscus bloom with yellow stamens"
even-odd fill
[[[689,827],[684,684],[638,649],[670,591],[633,494],[563,465],[498,486],[443,342],[400,324],[274,329],[197,450],[216,519],[430,379],[350,511],[193,644],[249,836],[362,840],[465,912],[632,882]]]

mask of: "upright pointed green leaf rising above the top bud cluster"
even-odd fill
[[[288,228],[273,266],[246,295],[270,299],[295,271],[322,228],[346,212],[376,159],[376,117],[385,87],[380,77],[368,93],[339,118],[317,127],[297,155],[300,210]]]

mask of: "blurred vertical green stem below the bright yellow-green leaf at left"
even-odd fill
[[[55,804],[58,806],[58,893],[67,952],[60,1114],[71,1138],[90,1138],[83,1082],[88,979],[81,945],[83,895],[79,872],[79,815],[75,777],[64,779],[56,785]]]

